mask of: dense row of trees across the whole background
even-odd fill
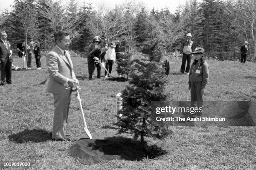
[[[126,2],[113,9],[91,2],[78,7],[75,0],[14,0],[13,10],[1,11],[0,30],[16,47],[24,40],[39,40],[49,50],[56,30],[71,33],[71,50],[84,52],[99,35],[108,42],[121,40],[126,52],[150,53],[159,42],[168,52],[179,50],[188,32],[196,47],[219,60],[240,56],[244,41],[249,43],[248,60],[256,57],[255,0],[190,0],[172,14],[168,7],[146,11],[139,2]]]

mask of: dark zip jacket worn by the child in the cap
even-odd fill
[[[196,70],[200,70],[200,73],[196,73]],[[200,63],[200,65],[199,62],[196,64],[193,62],[189,70],[189,87],[191,86],[191,82],[202,82],[201,88],[205,88],[208,82],[208,77],[209,68],[207,62]]]

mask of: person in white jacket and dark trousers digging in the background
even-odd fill
[[[105,55],[106,69],[111,74],[113,63],[115,63],[115,42],[110,43],[110,48],[107,50]],[[105,70],[105,78],[108,78],[107,71]]]

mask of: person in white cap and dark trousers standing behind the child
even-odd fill
[[[191,33],[187,34],[187,40],[183,41],[180,46],[180,56],[182,57],[182,65],[180,67],[180,72],[182,74],[188,74],[190,69],[190,62],[191,62],[191,53],[195,49],[194,42],[191,40]],[[187,67],[185,70],[187,61]]]

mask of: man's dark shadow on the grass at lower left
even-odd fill
[[[27,142],[45,142],[51,140],[51,132],[43,129],[25,129],[22,132],[15,133],[8,136],[10,141],[15,143],[27,143]]]

